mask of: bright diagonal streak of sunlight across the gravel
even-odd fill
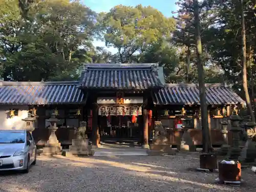
[[[63,157],[55,157],[57,159],[63,159]],[[158,157],[159,158],[159,157]],[[161,158],[167,158],[167,157],[161,157]],[[84,162],[82,158],[65,158],[69,159],[73,162]],[[161,185],[168,185],[168,186],[177,186],[178,188],[194,188],[194,189],[216,189],[216,191],[230,191],[230,188],[227,186],[220,186],[215,185],[215,180],[212,180],[212,182],[206,182],[206,180],[202,181],[196,181],[200,180],[199,178],[202,178],[200,176],[196,176],[193,178],[193,175],[197,174],[191,174],[186,171],[186,169],[177,170],[175,168],[168,168],[168,167],[161,167],[160,165],[156,165],[154,163],[153,165],[151,163],[148,164],[142,164],[141,161],[145,161],[145,157],[136,157],[134,158],[135,162],[131,161],[125,161],[125,157],[119,157],[119,158],[112,158],[112,157],[104,157],[104,158],[90,158],[90,164],[94,165],[98,168],[105,168],[105,169],[123,169],[122,173],[131,175],[132,177],[137,177],[138,180],[141,180],[141,178],[150,178],[151,182],[153,183],[161,183]],[[163,169],[163,170],[161,170]],[[199,173],[199,175],[202,175],[202,173]],[[187,180],[188,178],[191,178],[192,180]],[[212,175],[210,175],[212,177]],[[217,175],[216,175],[217,177]],[[183,190],[182,190],[183,191]],[[211,190],[212,191],[212,190]]]

